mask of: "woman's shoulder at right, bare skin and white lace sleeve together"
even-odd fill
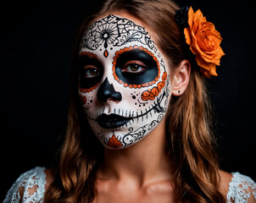
[[[241,173],[220,171],[220,191],[228,203],[256,203],[256,184]]]

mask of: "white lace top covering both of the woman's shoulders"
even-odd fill
[[[3,203],[42,203],[46,191],[45,167],[35,167],[23,173],[8,190]],[[248,176],[232,173],[226,195],[227,203],[256,203],[256,184]]]

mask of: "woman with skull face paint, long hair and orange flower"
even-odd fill
[[[255,202],[253,180],[220,171],[214,151],[203,83],[225,54],[214,25],[169,0],[92,13],[58,168],[22,174],[4,202]]]

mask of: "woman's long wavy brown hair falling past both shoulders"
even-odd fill
[[[186,55],[184,36],[175,23],[178,6],[170,0],[107,0],[78,30],[71,71],[67,133],[53,184],[45,202],[92,202],[97,195],[96,171],[103,146],[86,121],[78,96],[75,69],[81,36],[103,14],[122,10],[140,19],[157,35],[156,44],[175,69],[183,59],[192,63],[190,81],[182,96],[172,96],[166,119],[166,153],[170,156],[178,202],[225,202],[220,194],[218,158],[210,131],[210,105],[204,80],[193,58]]]

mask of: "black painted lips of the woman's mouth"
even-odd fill
[[[97,123],[103,129],[116,129],[128,123],[131,118],[125,118],[116,114],[102,114],[97,118]]]

